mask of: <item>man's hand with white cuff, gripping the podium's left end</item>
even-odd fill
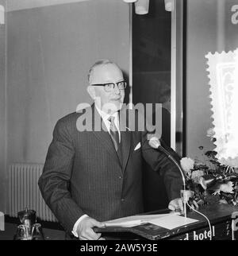
[[[83,219],[77,228],[77,233],[80,240],[98,240],[101,233],[95,233],[93,227],[105,227],[103,223],[98,222],[96,219],[86,217]],[[101,239],[100,239],[101,240]]]

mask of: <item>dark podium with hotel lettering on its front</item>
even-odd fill
[[[152,211],[146,214],[159,214],[166,211]],[[105,235],[106,237],[122,240],[209,240],[211,235],[213,240],[238,239],[238,231],[236,231],[238,230],[238,207],[228,204],[216,204],[199,208],[199,211],[209,219],[212,232],[209,230],[209,223],[205,217],[195,211],[188,211],[187,217],[198,219],[198,222],[172,230],[151,223],[144,223],[136,227],[106,227],[95,228],[94,230],[102,232],[102,236]]]

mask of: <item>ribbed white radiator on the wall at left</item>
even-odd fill
[[[9,166],[9,215],[11,217],[17,217],[17,212],[27,207],[36,211],[37,218],[57,222],[52,211],[44,203],[37,184],[43,166],[36,164]]]

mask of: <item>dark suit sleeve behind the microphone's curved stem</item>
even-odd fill
[[[148,133],[142,134],[142,154],[144,160],[151,166],[155,172],[158,172],[163,176],[163,182],[167,189],[167,196],[169,200],[174,200],[180,197],[180,190],[182,189],[182,176],[178,167],[159,149],[152,149],[148,145]],[[180,161],[180,157],[177,153],[163,142],[161,145],[167,149],[167,151],[175,158],[176,161]]]

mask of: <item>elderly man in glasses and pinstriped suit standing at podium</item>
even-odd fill
[[[94,104],[56,123],[39,186],[67,232],[79,239],[99,239],[93,227],[143,212],[143,159],[163,176],[171,210],[182,208],[182,178],[167,156],[148,144],[147,130],[129,129],[119,115],[126,82],[117,64],[99,60],[88,78]],[[83,119],[90,120],[90,129],[81,129]],[[100,120],[101,130],[95,129],[95,120]]]

